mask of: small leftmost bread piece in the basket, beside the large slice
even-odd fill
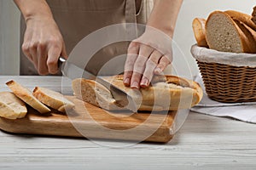
[[[192,28],[194,31],[195,40],[197,45],[200,47],[208,48],[207,39],[206,39],[206,21],[205,19],[195,18],[192,22]]]

